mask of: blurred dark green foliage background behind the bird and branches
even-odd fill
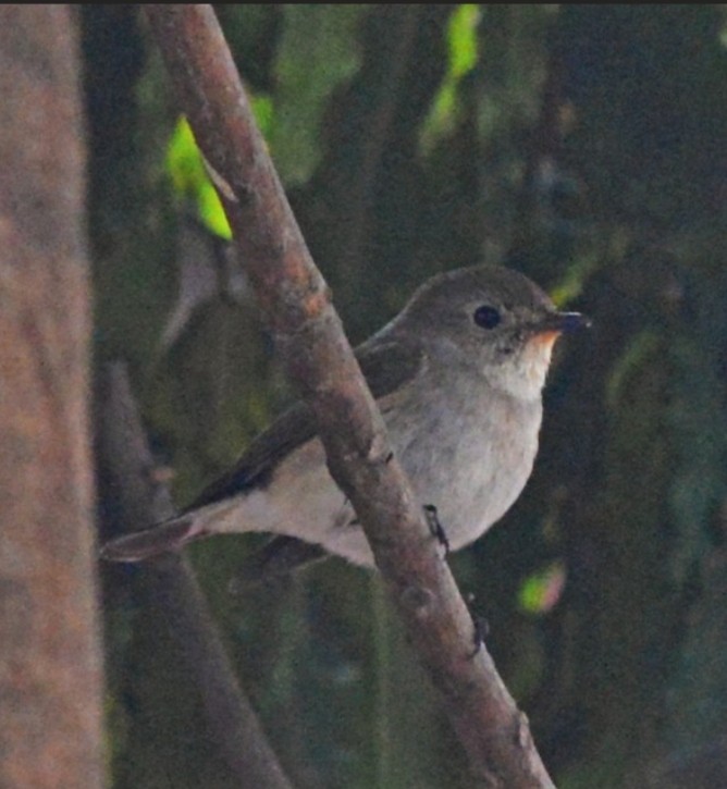
[[[526,492],[453,569],[558,786],[727,785],[724,9],[218,12],[354,341],[482,260],[594,319],[557,350]],[[200,225],[208,187],[137,14],[83,10],[97,356],[131,361],[184,504],[291,394],[244,261]],[[182,144],[192,168],[170,171]],[[190,553],[298,785],[466,786],[378,579],[331,560],[233,597],[258,544]],[[233,786],[135,606],[143,572],[122,576],[114,786]]]

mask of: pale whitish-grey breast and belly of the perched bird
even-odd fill
[[[471,382],[457,378],[463,380]],[[453,550],[476,540],[509,509],[538,451],[540,394],[521,399],[493,390],[483,379],[457,385],[429,371],[427,381],[410,384],[382,405],[396,456],[421,505],[436,507]],[[211,505],[200,517],[209,531],[288,534],[355,564],[372,565],[366,538],[328,473],[318,440],[285,458],[267,488]]]

